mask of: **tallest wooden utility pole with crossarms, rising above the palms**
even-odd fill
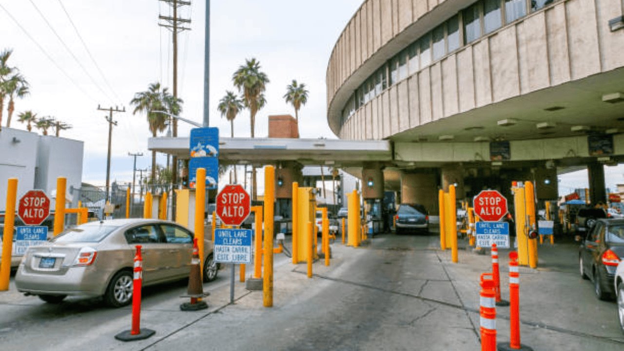
[[[191,20],[187,18],[179,18],[178,17],[178,7],[180,6],[190,6],[190,1],[184,0],[158,0],[167,2],[169,6],[173,8],[173,17],[158,15],[158,19],[161,21],[165,21],[165,23],[158,23],[158,26],[166,27],[172,32],[173,37],[173,99],[177,99],[178,97],[178,32],[182,31],[190,31],[189,27],[178,26],[178,24],[190,24]],[[172,118],[173,122],[173,137],[178,136],[178,121],[175,118]],[[178,157],[172,157],[172,168],[173,172],[171,174],[171,180],[173,183],[172,189],[172,204],[173,210],[172,215],[173,219],[175,219],[175,188],[178,185]]]

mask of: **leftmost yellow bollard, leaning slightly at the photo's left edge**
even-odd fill
[[[13,228],[17,202],[17,178],[9,178],[6,189],[6,211],[4,212],[4,232],[2,233],[2,260],[0,261],[0,291],[9,290],[11,278],[11,254],[13,251]]]

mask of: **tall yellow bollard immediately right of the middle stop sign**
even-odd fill
[[[275,205],[275,167],[265,167],[265,274],[262,284],[263,303],[273,307],[273,206]]]

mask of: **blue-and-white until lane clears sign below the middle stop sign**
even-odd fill
[[[215,229],[215,262],[251,263],[251,229]]]

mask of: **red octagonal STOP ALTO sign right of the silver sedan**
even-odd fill
[[[225,185],[217,195],[217,215],[225,225],[241,225],[250,212],[251,199],[240,185]]]

